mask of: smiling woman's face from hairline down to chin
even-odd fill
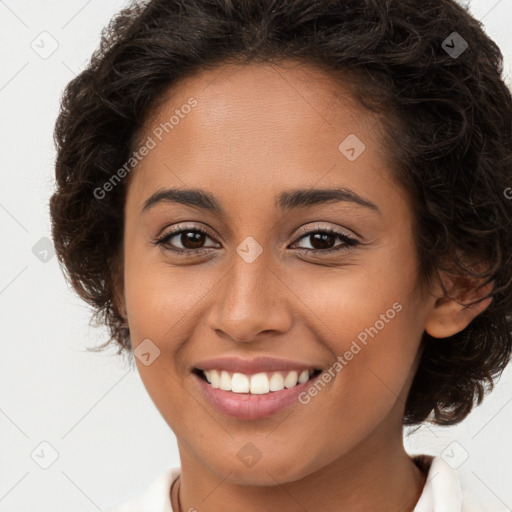
[[[379,129],[320,71],[256,64],[188,78],[146,122],[126,199],[124,305],[182,466],[275,485],[401,443],[432,299],[418,286],[411,205]],[[154,195],[171,188],[214,201]],[[300,395],[248,396],[193,371],[260,356],[324,373]],[[239,400],[235,413],[205,387],[225,407]],[[248,398],[261,403],[240,403]]]

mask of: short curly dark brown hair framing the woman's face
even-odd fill
[[[466,329],[421,341],[404,425],[457,423],[493,388],[512,349],[512,99],[498,46],[454,0],[154,0],[114,17],[64,91],[50,200],[66,278],[109,328],[94,350],[115,342],[117,354],[131,354],[113,291],[129,180],[101,200],[97,191],[178,80],[282,59],[350,83],[382,114],[392,168],[414,198],[423,282],[440,270],[493,282],[490,306]],[[470,259],[485,264],[480,274]]]

